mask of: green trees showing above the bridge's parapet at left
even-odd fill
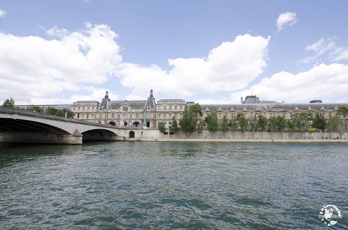
[[[56,115],[61,117],[65,117],[65,112],[68,112],[68,117],[74,118],[74,113],[70,109],[57,109],[53,107],[47,107],[45,111],[44,108],[41,108],[40,106],[36,106],[36,105],[30,105],[30,106],[27,106],[26,108],[20,108],[18,106],[15,106],[15,100],[13,98],[6,99],[3,102],[2,107],[23,109],[23,110],[27,110],[31,112],[45,113],[45,114]]]

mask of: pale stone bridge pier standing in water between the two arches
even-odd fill
[[[82,145],[82,134],[0,133],[0,142]]]

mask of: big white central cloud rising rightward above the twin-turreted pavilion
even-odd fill
[[[232,42],[223,42],[212,49],[207,58],[168,59],[172,66],[164,71],[157,65],[132,63],[118,65],[121,84],[133,87],[129,98],[148,95],[148,89],[171,96],[190,97],[198,92],[233,91],[246,87],[267,67],[267,46],[270,37],[239,35]]]

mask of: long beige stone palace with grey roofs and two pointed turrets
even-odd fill
[[[256,96],[246,96],[244,100],[241,98],[240,102],[240,104],[200,104],[203,111],[202,118],[212,110],[216,110],[219,119],[222,119],[223,115],[230,119],[232,115],[238,113],[245,113],[248,117],[254,114],[262,114],[266,117],[284,115],[290,119],[292,114],[298,112],[322,112],[328,116],[329,113],[335,113],[340,106],[348,107],[348,103],[322,103],[321,100],[312,100],[309,103],[260,101]],[[106,90],[101,102],[76,101],[72,105],[40,105],[40,107],[69,108],[75,114],[75,119],[101,124],[157,128],[158,123],[163,122],[165,127],[169,128],[172,117],[179,120],[185,105],[189,107],[193,104],[193,101],[186,102],[183,99],[160,99],[156,102],[151,89],[146,100],[112,101]]]

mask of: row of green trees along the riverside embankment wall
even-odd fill
[[[261,114],[254,114],[249,118],[244,113],[240,113],[232,115],[231,119],[223,116],[222,120],[219,121],[216,110],[213,110],[204,119],[201,118],[202,115],[202,109],[199,104],[194,104],[189,109],[185,106],[179,123],[175,117],[172,118],[172,125],[169,128],[169,132],[177,134],[181,130],[187,133],[189,137],[192,132],[197,131],[197,133],[202,133],[203,127],[206,125],[208,131],[211,133],[222,131],[226,135],[226,132],[232,131],[234,138],[236,131],[242,131],[243,138],[245,137],[246,131],[252,131],[253,138],[257,131],[262,132],[262,138],[265,131],[271,132],[272,138],[274,132],[280,132],[283,138],[283,133],[286,131],[291,133],[291,138],[294,132],[299,132],[302,138],[302,134],[304,132],[311,132],[310,128],[313,127],[319,130],[321,137],[322,132],[327,129],[330,132],[330,138],[332,138],[332,132],[338,129],[342,138],[345,132],[345,125],[347,126],[348,108],[341,106],[335,115],[330,113],[328,118],[319,112],[295,113],[290,120],[287,120],[285,116],[279,115],[267,118]],[[160,132],[165,132],[164,123],[161,122],[158,128]]]

